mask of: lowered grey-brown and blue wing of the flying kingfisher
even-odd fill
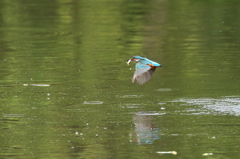
[[[136,71],[133,74],[132,82],[137,82],[142,85],[143,83],[149,81],[154,73],[154,69],[150,66],[138,62],[136,64]]]

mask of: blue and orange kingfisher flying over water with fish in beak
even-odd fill
[[[129,65],[132,61],[136,62],[136,71],[133,74],[132,82],[136,82],[140,85],[149,81],[155,69],[162,66],[157,62],[141,56],[133,56],[133,58],[127,60],[127,64]]]

